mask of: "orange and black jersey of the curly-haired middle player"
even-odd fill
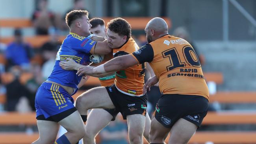
[[[132,54],[132,52],[139,49],[132,37],[124,43],[120,48],[113,49],[113,56]],[[115,86],[117,89],[130,96],[142,96],[145,76],[144,63],[134,65],[115,73]]]

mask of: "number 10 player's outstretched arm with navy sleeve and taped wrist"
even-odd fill
[[[111,59],[107,63],[99,65],[95,68],[90,66],[83,66],[78,69],[77,74],[102,74],[106,72],[118,71],[130,66],[134,66],[137,64],[151,62],[154,58],[154,51],[150,44],[146,44],[142,46],[138,51],[129,54],[129,55],[122,55],[119,57],[115,57]]]

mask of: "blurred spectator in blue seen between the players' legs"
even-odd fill
[[[120,113],[119,113],[120,114]],[[127,125],[120,121],[120,118],[111,121],[101,132],[100,144],[128,144]]]

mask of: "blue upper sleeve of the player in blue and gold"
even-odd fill
[[[87,37],[74,38],[73,48],[78,52],[89,53],[90,50],[96,45],[96,41],[93,41]]]

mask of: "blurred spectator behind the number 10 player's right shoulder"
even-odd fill
[[[198,52],[197,47],[195,46],[194,42],[191,40],[191,37],[189,36],[189,33],[187,32],[186,28],[184,28],[184,27],[176,28],[173,31],[173,35],[175,37],[180,37],[180,38],[188,41],[191,44],[191,46],[193,46],[193,48],[199,58],[201,66],[204,65],[204,63],[205,63],[204,55],[202,55],[202,54],[200,54],[200,52]]]

